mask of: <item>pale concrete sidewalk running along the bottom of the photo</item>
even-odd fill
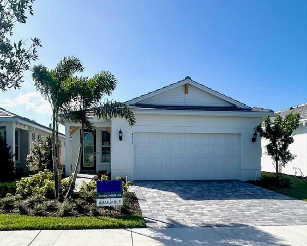
[[[307,225],[0,231],[0,245],[307,245]]]

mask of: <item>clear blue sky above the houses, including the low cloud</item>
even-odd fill
[[[251,107],[307,101],[306,1],[35,1],[14,39],[39,37],[39,61],[64,56],[118,80],[126,101],[191,76]],[[25,72],[0,107],[49,125],[51,114]],[[63,131],[63,128],[61,128]]]

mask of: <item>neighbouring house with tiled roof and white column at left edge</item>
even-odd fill
[[[15,156],[13,161],[16,168],[29,170],[26,166],[27,154],[31,153],[33,140],[44,137],[52,133],[52,129],[45,127],[34,120],[16,115],[0,107],[0,131],[6,137],[6,143],[13,146],[11,151]],[[65,135],[59,134],[60,140],[60,163],[65,163],[64,140]]]

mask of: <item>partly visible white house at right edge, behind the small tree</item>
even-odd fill
[[[307,103],[280,110],[274,115],[280,114],[282,117],[289,114],[291,111],[300,112],[301,119],[299,127],[293,132],[294,142],[289,146],[291,154],[296,157],[293,161],[288,162],[285,167],[281,167],[281,172],[284,174],[295,175],[297,171],[298,176],[307,176]],[[268,144],[267,139],[261,139],[262,157],[261,157],[261,170],[266,172],[275,172],[275,166],[272,164],[273,160],[270,156],[265,154],[265,145]],[[299,168],[300,170],[296,169]],[[301,174],[302,173],[302,174]]]

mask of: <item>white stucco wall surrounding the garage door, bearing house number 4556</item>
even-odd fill
[[[135,114],[136,125],[132,128],[124,119],[112,119],[112,179],[127,175],[134,180],[133,132],[171,133],[237,133],[241,135],[241,171],[238,179],[259,177],[260,139],[251,142],[253,128],[261,123],[261,117],[197,116],[197,115],[148,115]],[[122,129],[123,140],[118,132]]]

